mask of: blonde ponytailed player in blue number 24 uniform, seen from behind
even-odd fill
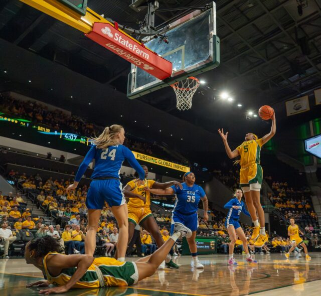
[[[93,139],[94,145],[88,151],[79,166],[74,184],[66,192],[76,189],[88,165],[95,160],[92,182],[88,190],[86,206],[88,208],[88,231],[85,239],[85,251],[93,256],[96,248],[96,232],[101,210],[106,201],[117,220],[119,236],[117,243],[118,260],[124,261],[128,241],[128,210],[122,193],[119,172],[124,160],[127,160],[139,175],[137,184],[144,185],[145,172],[136,161],[132,152],[125,146],[125,131],[121,125],[113,124]]]

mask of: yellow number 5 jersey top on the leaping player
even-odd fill
[[[263,140],[250,140],[245,141],[241,145],[239,145],[236,149],[240,153],[241,157],[241,168],[246,168],[255,163],[260,163],[260,153],[261,147],[263,146]]]

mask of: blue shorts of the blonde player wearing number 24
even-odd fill
[[[105,201],[110,207],[121,206],[126,203],[120,180],[107,179],[91,181],[86,199],[88,210],[101,210]]]

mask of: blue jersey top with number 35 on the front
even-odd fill
[[[182,183],[183,189],[172,186],[176,194],[176,203],[174,212],[178,211],[182,214],[193,214],[197,212],[200,199],[205,196],[204,189],[194,184],[193,187],[187,186],[186,183]]]

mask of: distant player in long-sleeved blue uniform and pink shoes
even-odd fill
[[[245,215],[251,217],[250,213],[246,210],[244,202],[241,200],[243,192],[241,189],[235,191],[234,198],[232,198],[227,204],[224,205],[225,209],[229,209],[227,217],[225,220],[225,228],[230,236],[230,246],[229,246],[229,261],[230,265],[238,265],[233,257],[234,245],[237,237],[243,242],[243,248],[246,253],[246,261],[256,263],[253,257],[249,253],[249,248],[247,246],[247,240],[244,231],[240,225],[239,219],[240,214],[243,212]]]

